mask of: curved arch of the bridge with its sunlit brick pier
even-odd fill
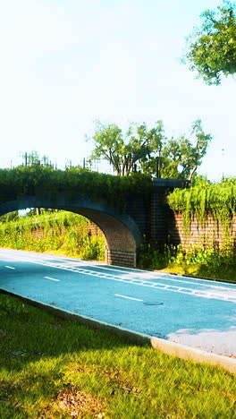
[[[107,264],[136,267],[136,252],[142,237],[139,227],[127,214],[119,213],[106,205],[93,201],[68,201],[64,196],[48,201],[44,198],[19,197],[16,201],[0,204],[0,215],[25,208],[52,208],[75,212],[92,222],[105,235],[105,262]]]

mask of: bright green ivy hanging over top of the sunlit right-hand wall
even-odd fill
[[[185,227],[190,226],[194,216],[203,225],[211,213],[227,230],[236,212],[236,178],[223,179],[219,184],[199,181],[189,189],[175,189],[168,196],[168,203],[171,209],[182,213]]]

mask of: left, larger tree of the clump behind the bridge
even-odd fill
[[[149,131],[146,124],[130,124],[125,135],[116,124],[103,125],[97,121],[91,159],[105,158],[117,175],[130,175],[132,170],[136,170],[135,165],[150,154],[152,145],[160,142],[162,136],[160,121]]]

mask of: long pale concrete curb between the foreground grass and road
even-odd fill
[[[236,373],[236,359],[234,358],[208,353],[195,347],[185,346],[179,343],[171,342],[169,340],[164,340],[162,338],[144,335],[130,329],[123,329],[120,326],[114,326],[110,323],[105,323],[104,321],[96,321],[89,317],[81,316],[80,314],[74,314],[73,312],[68,312],[49,304],[39,303],[36,300],[32,300],[23,295],[14,294],[2,288],[0,288],[0,293],[19,297],[27,304],[42,308],[47,312],[51,312],[55,316],[61,317],[65,320],[78,321],[80,324],[83,324],[90,329],[108,330],[119,337],[127,338],[133,343],[150,345],[153,348],[164,352],[164,354],[173,355],[181,359],[196,361],[198,363],[209,363],[221,367],[226,371]]]

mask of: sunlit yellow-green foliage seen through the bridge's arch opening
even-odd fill
[[[1,222],[1,247],[35,252],[56,252],[81,259],[105,259],[105,241],[101,235],[89,235],[89,220],[78,214],[59,211],[50,215],[21,217]],[[32,232],[37,235],[34,238]],[[17,234],[16,234],[17,233]]]

